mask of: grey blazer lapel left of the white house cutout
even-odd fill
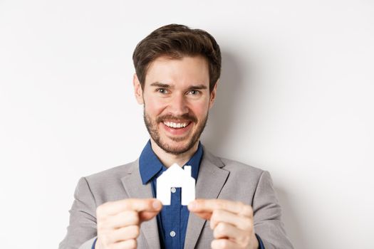
[[[121,181],[129,198],[153,198],[151,184],[142,184],[139,171],[139,159],[128,166],[127,175],[124,176]],[[150,248],[160,248],[157,219],[152,218],[150,221],[143,222],[141,228],[142,234]]]

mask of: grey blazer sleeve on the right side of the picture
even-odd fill
[[[281,221],[281,206],[276,198],[273,182],[268,171],[264,171],[257,184],[252,203],[254,232],[261,237],[266,249],[294,248],[286,235]]]

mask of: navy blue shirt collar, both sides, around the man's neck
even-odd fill
[[[185,164],[192,166],[191,174],[194,179],[197,179],[197,174],[199,173],[199,165],[202,159],[202,154],[202,144],[199,142],[197,151]],[[148,140],[139,158],[139,170],[140,177],[142,178],[142,184],[147,184],[147,182],[150,181],[150,179],[152,179],[157,173],[160,171],[165,171],[166,169],[167,168],[162,164],[160,159],[158,159],[155,152],[153,152],[150,140]]]

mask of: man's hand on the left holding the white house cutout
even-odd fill
[[[155,198],[125,199],[98,206],[95,249],[136,248],[140,223],[155,217],[161,208],[161,202]]]

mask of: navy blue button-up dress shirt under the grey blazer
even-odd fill
[[[199,166],[202,159],[203,149],[199,142],[199,147],[194,155],[187,161],[185,165],[191,166],[192,177],[197,181],[199,174]],[[185,166],[184,165],[184,166]],[[183,167],[184,167],[183,166]],[[152,194],[156,197],[156,180],[167,168],[162,164],[160,159],[153,152],[150,140],[145,145],[139,158],[140,177],[142,184],[150,183],[152,185]],[[160,236],[161,248],[166,249],[182,249],[185,245],[185,237],[187,231],[187,222],[189,211],[187,206],[182,206],[181,203],[181,189],[172,188],[170,206],[163,206],[160,213],[157,215],[157,227]],[[259,240],[259,249],[264,249],[264,245],[259,235],[256,235]],[[92,249],[95,249],[95,242]]]

